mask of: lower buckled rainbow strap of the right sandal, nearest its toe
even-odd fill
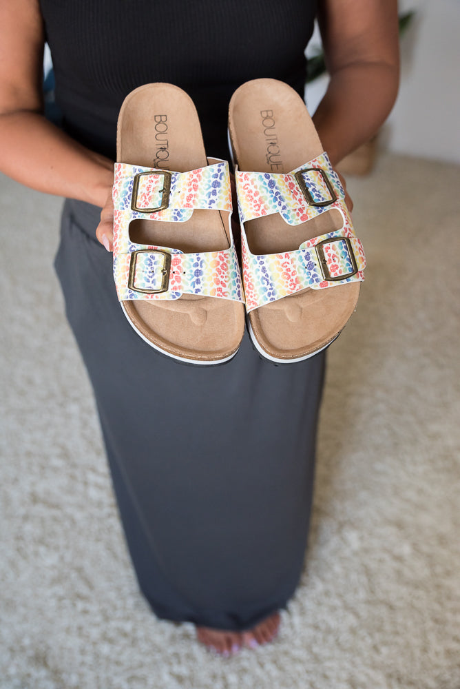
[[[297,251],[256,256],[243,245],[243,281],[247,311],[301,289],[324,289],[362,282],[366,258],[361,241],[349,229],[315,237]]]

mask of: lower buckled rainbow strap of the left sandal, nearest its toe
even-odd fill
[[[118,300],[178,299],[199,294],[244,303],[235,247],[183,254],[178,249],[141,246],[114,256]]]

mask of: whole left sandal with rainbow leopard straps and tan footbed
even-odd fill
[[[244,334],[229,165],[207,161],[189,96],[163,83],[130,93],[117,159],[114,278],[127,320],[171,358],[228,361]]]

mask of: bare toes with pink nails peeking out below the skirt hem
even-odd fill
[[[197,627],[198,641],[207,648],[215,650],[224,657],[235,655],[240,648],[257,648],[262,644],[273,641],[280,628],[280,613],[273,613],[258,625],[245,632],[230,632],[226,630],[211,629],[209,627]]]

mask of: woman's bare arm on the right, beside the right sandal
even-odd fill
[[[333,165],[388,116],[399,83],[397,0],[319,0],[328,89],[313,116]]]

